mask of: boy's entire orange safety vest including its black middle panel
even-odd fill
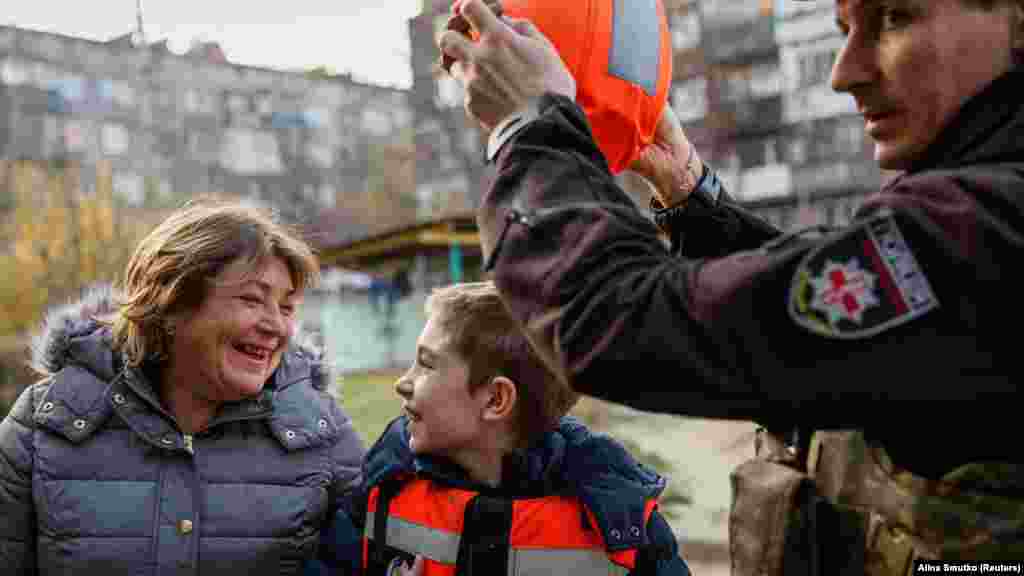
[[[644,523],[655,501],[644,508]],[[579,498],[499,498],[413,479],[374,487],[367,505],[364,573],[422,557],[425,576],[625,576],[636,548],[609,550]],[[381,545],[383,543],[384,545]]]

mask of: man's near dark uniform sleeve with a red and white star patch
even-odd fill
[[[579,392],[817,426],[1014,398],[1012,351],[982,327],[1021,317],[999,281],[1021,240],[974,201],[988,183],[905,178],[847,230],[677,257],[609,176],[582,112],[552,95],[540,110],[499,155],[478,223],[507,304]]]

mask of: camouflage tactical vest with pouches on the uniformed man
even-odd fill
[[[938,481],[899,468],[861,431],[807,450],[759,430],[731,476],[733,576],[909,576],[919,560],[1024,558],[1024,467],[962,466]]]

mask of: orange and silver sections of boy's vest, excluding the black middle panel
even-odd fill
[[[378,548],[378,538],[383,537],[386,548],[422,557],[425,576],[454,576],[463,544],[467,508],[480,497],[479,493],[413,479],[403,483],[393,496],[382,498],[381,494],[381,488],[374,487],[367,503],[364,573],[371,574],[370,541],[373,540]],[[378,515],[379,502],[384,499],[388,500],[387,513]],[[636,567],[637,549],[608,550],[596,528],[596,519],[579,498],[544,496],[492,500],[510,504],[511,511],[507,526],[500,529],[507,531],[504,536],[508,546],[508,565],[501,576],[625,576]],[[655,506],[655,500],[647,501],[645,525]],[[594,528],[585,526],[585,517]],[[383,519],[386,527],[378,527],[377,519]],[[475,536],[478,529],[472,528],[469,536]]]

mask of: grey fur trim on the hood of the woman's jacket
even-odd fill
[[[100,319],[114,315],[118,301],[118,291],[103,284],[84,290],[78,300],[51,308],[32,338],[30,367],[46,377],[74,364],[101,380],[112,380],[124,364],[114,349],[110,326]],[[323,351],[309,340],[308,334],[301,330],[292,336],[274,374],[278,387],[296,378],[312,376],[317,389],[333,388],[327,385]]]

